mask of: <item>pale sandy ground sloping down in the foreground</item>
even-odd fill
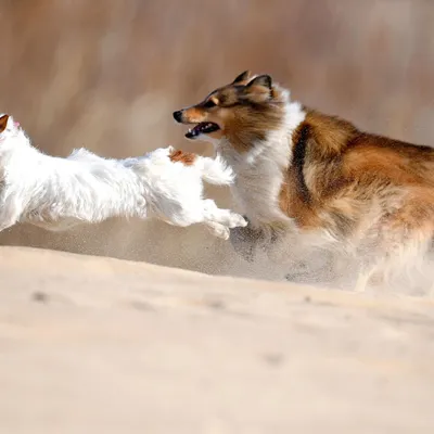
[[[0,248],[0,432],[433,433],[434,302]]]

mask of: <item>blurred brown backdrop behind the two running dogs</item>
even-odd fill
[[[0,112],[43,151],[137,155],[183,140],[171,112],[244,69],[373,132],[434,143],[434,2],[424,0],[0,0]],[[225,189],[209,189],[231,206]],[[0,244],[238,273],[200,227],[111,220]]]

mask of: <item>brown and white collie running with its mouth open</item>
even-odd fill
[[[360,131],[250,72],[174,117],[232,167],[233,196],[263,239],[362,257],[361,286],[431,253],[434,149]]]

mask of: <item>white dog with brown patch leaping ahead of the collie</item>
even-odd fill
[[[156,216],[175,226],[206,225],[228,239],[242,216],[203,199],[203,180],[230,184],[220,161],[168,146],[127,159],[80,149],[53,157],[34,148],[20,124],[0,115],[0,231],[16,222],[64,230],[110,217]]]

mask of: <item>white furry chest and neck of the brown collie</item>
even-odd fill
[[[302,105],[288,98],[282,126],[269,131],[265,140],[253,143],[247,152],[237,152],[227,139],[216,146],[237,175],[232,194],[253,226],[291,222],[279,207],[279,193],[283,173],[292,161],[293,132],[305,116]]]

